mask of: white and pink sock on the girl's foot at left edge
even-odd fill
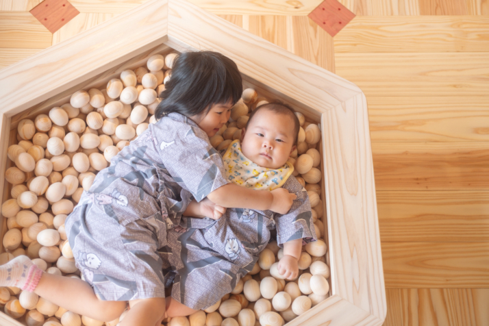
[[[29,257],[21,255],[0,266],[0,286],[16,286],[32,292],[41,275],[42,270]]]

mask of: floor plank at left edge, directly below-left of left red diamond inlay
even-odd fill
[[[45,49],[52,35],[29,12],[0,12],[0,48]]]

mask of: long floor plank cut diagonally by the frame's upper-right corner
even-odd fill
[[[336,53],[336,73],[371,96],[486,96],[489,53]]]

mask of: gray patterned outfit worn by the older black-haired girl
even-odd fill
[[[181,114],[161,118],[97,174],[66,218],[77,268],[103,300],[164,297],[159,249],[197,201],[228,181],[208,136]]]

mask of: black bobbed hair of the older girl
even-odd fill
[[[241,95],[242,79],[233,60],[214,51],[184,52],[175,59],[155,118],[171,112],[203,117],[212,105],[234,105]]]

